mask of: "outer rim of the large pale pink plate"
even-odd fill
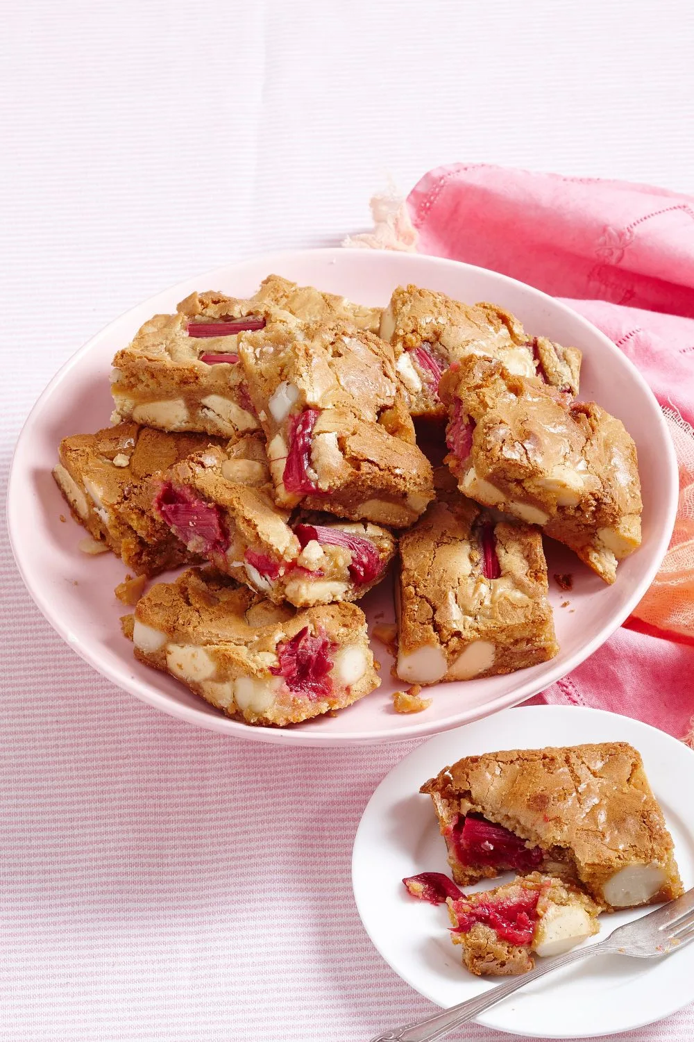
[[[98,346],[99,341],[106,332],[111,328],[112,325],[127,320],[130,316],[134,315],[140,308],[148,306],[154,307],[156,309],[156,301],[161,297],[169,295],[185,295],[191,292],[196,286],[202,284],[204,281],[211,281],[217,277],[226,277],[229,274],[230,268],[246,268],[249,265],[255,265],[262,260],[263,266],[266,267],[268,271],[278,270],[284,264],[294,262],[298,257],[312,257],[316,260],[323,260],[327,264],[336,263],[340,256],[345,253],[358,253],[362,254],[365,251],[359,249],[345,249],[343,247],[326,247],[320,249],[305,249],[305,250],[285,250],[279,253],[266,254],[263,256],[251,256],[242,260],[234,262],[232,265],[222,265],[203,272],[200,275],[186,278],[160,293],[154,294],[147,300],[142,301],[134,307],[129,308],[124,312],[117,319],[111,322],[106,323],[99,332],[94,337],[89,338],[85,344],[82,345],[68,361],[61,366],[55,376],[50,380],[48,386],[40,395],[38,399],[31,408],[29,415],[27,416],[20,436],[15,447],[15,452],[12,454],[12,460],[9,469],[9,477],[7,482],[7,502],[6,502],[6,522],[9,532],[9,542],[12,548],[12,553],[17,567],[22,575],[22,579],[33,599],[34,603],[42,612],[47,621],[51,626],[59,634],[59,636],[68,643],[73,650],[75,650],[80,658],[93,666],[102,676],[105,676],[111,683],[115,684],[122,690],[128,691],[130,694],[134,695],[140,701],[144,701],[150,705],[153,705],[171,716],[177,717],[179,719],[187,720],[188,722],[195,723],[198,726],[205,727],[210,730],[214,730],[217,734],[226,734],[232,737],[245,738],[251,741],[264,741],[264,742],[281,742],[285,745],[328,745],[328,744],[340,744],[340,745],[351,745],[351,744],[376,744],[381,742],[400,742],[408,741],[412,738],[421,738],[430,735],[440,734],[444,730],[449,730],[452,728],[458,727],[463,722],[470,722],[481,717],[490,715],[491,713],[496,713],[504,709],[508,709],[512,705],[516,705],[528,698],[532,698],[535,694],[543,689],[549,687],[556,680],[561,679],[561,677],[566,676],[573,669],[576,668],[582,662],[588,659],[598,647],[600,647],[606,640],[609,639],[612,634],[621,625],[624,619],[631,614],[633,609],[642,598],[648,587],[650,586],[652,579],[654,578],[660,564],[667,550],[672,530],[674,528],[676,512],[677,512],[677,490],[678,490],[678,472],[677,472],[677,462],[674,453],[674,447],[672,445],[669,431],[667,429],[667,424],[665,418],[663,417],[660,404],[656,399],[652,391],[648,387],[647,382],[639,372],[639,370],[634,366],[634,364],[612,343],[612,341],[605,336],[596,326],[585,319],[582,315],[574,312],[567,304],[554,297],[548,296],[542,291],[535,289],[534,287],[528,286],[524,282],[520,282],[518,279],[513,279],[507,275],[502,275],[498,272],[490,271],[488,269],[481,269],[477,265],[468,265],[459,260],[452,260],[444,257],[431,256],[429,254],[417,254],[418,259],[426,259],[427,263],[431,264],[433,267],[447,267],[456,270],[465,270],[469,272],[480,272],[484,271],[485,277],[490,277],[492,280],[498,282],[499,293],[503,294],[505,286],[517,286],[520,287],[524,292],[536,296],[540,301],[548,301],[550,306],[559,311],[570,314],[573,321],[577,321],[580,325],[584,326],[587,332],[593,337],[597,338],[601,344],[602,348],[611,353],[618,355],[623,364],[631,370],[632,378],[640,384],[642,393],[646,397],[650,398],[651,403],[654,407],[654,414],[657,414],[658,423],[661,428],[661,433],[663,436],[663,445],[665,446],[666,455],[663,461],[663,466],[667,472],[667,483],[670,492],[669,495],[669,508],[667,523],[661,528],[660,532],[653,535],[656,541],[656,546],[653,547],[652,561],[650,567],[644,572],[641,581],[634,588],[631,596],[626,598],[624,603],[621,605],[619,611],[616,611],[609,623],[606,623],[602,630],[596,634],[592,640],[590,640],[582,648],[577,649],[574,654],[556,665],[554,668],[547,667],[546,672],[543,673],[539,683],[535,679],[525,680],[518,685],[517,688],[509,691],[506,694],[497,696],[492,701],[482,703],[480,705],[473,705],[466,710],[461,711],[460,714],[455,714],[451,717],[445,717],[442,719],[432,719],[432,720],[413,720],[409,725],[401,725],[396,731],[388,730],[387,724],[381,730],[374,730],[368,735],[364,735],[361,731],[339,731],[336,734],[312,734],[310,729],[294,729],[294,728],[269,728],[269,727],[251,727],[248,724],[241,723],[239,721],[232,720],[228,717],[224,717],[220,714],[219,717],[211,716],[208,712],[202,710],[196,710],[191,706],[182,705],[179,702],[171,701],[162,692],[157,691],[153,688],[154,680],[150,683],[142,683],[137,677],[132,675],[125,675],[125,673],[119,669],[111,669],[109,666],[101,663],[97,655],[93,654],[88,645],[83,645],[75,635],[71,632],[67,620],[57,612],[55,605],[51,602],[51,599],[43,594],[42,591],[37,590],[31,579],[27,563],[24,562],[21,551],[18,549],[17,540],[15,537],[15,531],[19,531],[22,523],[20,516],[15,515],[15,500],[14,489],[20,481],[20,474],[18,473],[18,468],[16,467],[16,461],[20,454],[20,449],[23,448],[25,441],[30,437],[33,425],[38,421],[41,417],[42,407],[44,402],[54,393],[56,388],[70,375],[71,371],[75,366],[78,365],[80,358]],[[389,264],[402,263],[404,267],[407,264],[407,259],[411,258],[409,253],[397,253],[389,250],[369,250],[367,251],[370,255],[384,254],[388,257]],[[520,674],[517,674],[520,675]],[[460,681],[461,684],[464,681]],[[434,687],[432,690],[436,690]]]

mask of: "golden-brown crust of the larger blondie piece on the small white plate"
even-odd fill
[[[420,791],[432,796],[444,834],[459,815],[481,814],[540,847],[545,865],[580,880],[605,907],[606,884],[633,865],[662,870],[648,903],[682,893],[663,813],[639,752],[624,742],[465,756]],[[449,861],[463,884],[496,874],[462,866],[452,847]]]

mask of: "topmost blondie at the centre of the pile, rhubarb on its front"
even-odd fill
[[[393,527],[417,519],[432,468],[388,345],[344,323],[275,323],[245,333],[238,351],[280,505]]]

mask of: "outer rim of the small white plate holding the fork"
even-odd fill
[[[483,730],[484,728],[489,727],[492,723],[496,727],[498,727],[499,730],[503,731],[503,728],[509,725],[510,720],[513,719],[512,714],[514,716],[515,715],[519,716],[521,713],[523,715],[528,714],[528,717],[525,717],[528,722],[531,722],[533,718],[535,720],[537,720],[538,718],[540,719],[544,718],[545,720],[555,720],[557,721],[555,725],[557,726],[558,729],[561,729],[562,720],[566,721],[571,721],[571,719],[575,720],[576,714],[580,714],[584,719],[590,720],[592,718],[595,721],[595,727],[596,730],[598,731],[595,735],[594,739],[592,739],[595,742],[599,742],[602,740],[599,735],[600,723],[602,723],[603,721],[609,721],[610,723],[614,724],[616,721],[619,721],[619,727],[624,731],[624,737],[623,739],[620,740],[629,742],[637,749],[640,749],[640,744],[644,745],[645,748],[646,743],[654,741],[659,745],[662,744],[667,746],[667,748],[671,752],[674,752],[675,755],[677,756],[679,755],[691,756],[692,758],[691,764],[689,764],[688,766],[692,771],[692,775],[694,777],[694,752],[692,752],[692,750],[690,750],[687,747],[687,745],[685,745],[684,742],[678,741],[671,735],[668,735],[666,731],[660,730],[657,727],[652,727],[650,724],[644,723],[643,721],[637,720],[633,717],[621,716],[620,714],[610,713],[606,710],[598,710],[589,706],[576,706],[576,705],[526,705],[526,706],[518,706],[515,709],[511,708],[503,711],[502,713],[494,714],[493,721],[491,717],[487,717],[483,720],[477,720],[473,721],[472,723],[464,724],[463,726],[456,728],[454,731],[449,730],[434,736],[433,738],[430,738],[427,742],[422,742],[420,745],[418,745],[415,749],[413,749],[410,753],[408,753],[408,755],[404,756],[403,760],[399,761],[399,763],[395,764],[387,772],[387,774],[385,774],[385,776],[376,787],[359,820],[352,851],[353,894],[354,894],[355,904],[359,913],[359,918],[361,919],[361,923],[369,940],[371,941],[371,943],[374,944],[375,948],[377,949],[381,958],[384,960],[384,962],[390,967],[390,969],[394,973],[396,973],[402,979],[404,979],[407,984],[409,984],[411,988],[413,988],[420,995],[423,995],[426,998],[430,999],[430,1001],[434,1002],[436,1006],[439,1006],[442,1009],[446,1008],[444,1003],[440,1002],[428,991],[420,988],[418,986],[418,982],[415,978],[413,978],[413,976],[403,971],[402,967],[396,967],[393,965],[393,962],[388,958],[387,951],[384,950],[383,945],[380,943],[381,942],[380,934],[378,929],[375,929],[374,924],[370,921],[370,917],[367,911],[367,901],[363,897],[363,894],[365,894],[366,890],[368,889],[368,884],[363,879],[363,876],[366,871],[366,858],[364,855],[362,845],[367,843],[367,840],[365,839],[365,834],[367,828],[372,828],[375,823],[378,824],[379,822],[384,822],[384,816],[387,813],[388,805],[392,803],[392,800],[388,799],[387,796],[384,794],[386,793],[387,788],[389,786],[399,783],[399,775],[401,774],[405,775],[408,769],[410,769],[414,765],[414,770],[412,771],[411,786],[414,786],[415,788],[414,789],[410,788],[408,790],[408,793],[416,792],[418,785],[421,784],[419,782],[420,776],[421,780],[423,782],[423,779],[426,779],[427,776],[432,776],[444,766],[445,756],[440,759],[440,761],[437,760],[437,766],[433,765],[420,766],[419,761],[426,759],[428,750],[431,753],[433,747],[443,742],[449,742],[453,738],[455,738],[457,734],[459,734],[461,737],[466,734],[467,739],[469,741],[470,731],[473,731],[473,729]],[[571,716],[569,716],[569,714],[571,714]],[[566,734],[566,731],[564,731],[564,734]],[[610,739],[610,740],[617,741],[617,739]],[[490,750],[491,748],[499,748],[499,749],[511,748],[514,747],[512,746],[512,741],[513,741],[512,738],[510,738],[510,740],[508,741],[505,740],[502,734],[499,735],[498,744],[494,746],[488,746],[488,748]],[[555,743],[544,742],[542,744],[560,745],[562,743],[560,741],[556,741]],[[522,747],[522,746],[516,745],[515,747]],[[482,749],[479,749],[477,751],[481,752]],[[470,753],[466,752],[464,749],[461,749],[460,755],[465,755],[465,754],[470,754]],[[647,755],[648,752],[645,753],[645,758],[647,758]],[[423,798],[425,797],[422,797],[422,799]],[[382,803],[384,804],[383,807],[381,805]],[[433,811],[431,811],[431,809],[429,809],[429,813],[433,815]],[[694,811],[690,813],[690,827],[692,834],[694,834]],[[441,843],[443,843],[442,840]],[[676,852],[677,851],[675,850],[675,855]],[[421,866],[419,868],[419,871],[425,871],[425,870],[426,866]],[[694,878],[692,878],[690,883],[694,883]],[[400,877],[394,878],[393,884],[396,887],[397,884],[400,884]],[[685,885],[687,886],[687,879],[685,879]],[[602,922],[603,926],[600,936],[607,937],[609,929],[606,928],[605,919],[602,920]],[[442,932],[443,931],[445,931],[445,923],[442,923]],[[694,945],[690,945],[689,948],[685,949],[682,952],[682,954],[673,952],[673,957],[687,958],[690,963],[689,978],[691,981],[691,989],[689,993],[686,995],[677,994],[672,1001],[665,1002],[656,1012],[651,1012],[651,1014],[638,1017],[636,1020],[629,1020],[629,1021],[625,1020],[623,1024],[611,1026],[610,1029],[607,1032],[597,1028],[586,1029],[585,1026],[582,1026],[581,1029],[579,1031],[569,1031],[569,1032],[552,1031],[551,1033],[547,1033],[542,1029],[538,1031],[537,1025],[529,1024],[526,1022],[520,1024],[517,1027],[511,1026],[507,1022],[504,1022],[503,1013],[499,1016],[499,1013],[500,1011],[503,1011],[505,1004],[504,1002],[498,1003],[498,1006],[496,1007],[491,1007],[488,1011],[485,1011],[479,1017],[474,1018],[473,1022],[483,1024],[485,1027],[503,1032],[505,1034],[520,1035],[523,1037],[528,1036],[529,1038],[537,1038],[537,1039],[602,1038],[611,1035],[621,1034],[622,1032],[635,1031],[638,1029],[639,1027],[643,1027],[647,1024],[654,1023],[657,1021],[665,1019],[666,1017],[671,1016],[673,1013],[676,1013],[678,1010],[682,1010],[684,1007],[688,1006],[691,1001],[694,1000],[694,972],[692,972],[694,971]],[[623,958],[623,957],[614,957],[614,958]],[[665,960],[670,958],[672,957],[665,957]],[[638,960],[637,962],[639,964],[651,965],[650,961],[646,960]],[[653,961],[653,965],[656,964],[656,962],[660,963],[661,961],[660,960]],[[579,963],[576,964],[576,968],[580,969],[583,965],[585,964]],[[465,974],[465,970],[463,968],[461,968],[461,973]],[[469,977],[471,977],[471,974],[466,975],[466,978],[468,981]],[[482,993],[483,991],[493,987],[494,984],[498,983],[493,977],[479,978],[479,979],[482,982],[482,984],[478,993]],[[551,975],[544,978],[544,982],[542,982],[543,987],[550,988],[551,987],[550,982],[551,982]],[[471,997],[471,996],[467,995],[465,997]],[[512,1002],[513,997],[511,997],[507,1001]],[[392,1029],[396,1025],[384,1024],[384,1031]]]

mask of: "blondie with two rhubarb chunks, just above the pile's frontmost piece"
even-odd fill
[[[276,506],[260,438],[197,452],[155,483],[155,515],[191,552],[276,603],[357,600],[395,552],[395,540],[378,525],[323,514],[290,518]]]

